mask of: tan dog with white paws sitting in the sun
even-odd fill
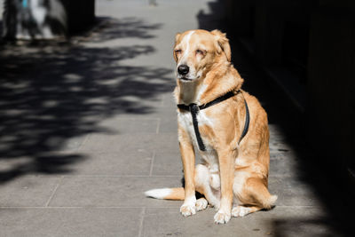
[[[197,112],[197,130],[201,135],[193,128],[193,113],[177,109],[185,189],[154,189],[146,195],[185,200],[180,209],[184,216],[206,209],[209,202],[218,209],[216,223],[228,222],[231,215],[242,217],[259,209],[270,209],[277,196],[267,189],[270,161],[267,115],[255,97],[241,91],[243,79],[231,65],[231,49],[225,34],[201,29],[177,34],[174,59],[177,104],[201,106],[228,92],[233,94]],[[249,129],[241,139],[247,117]],[[198,136],[205,150],[201,150]],[[196,167],[195,148],[205,162]],[[196,201],[195,191],[207,200]]]

